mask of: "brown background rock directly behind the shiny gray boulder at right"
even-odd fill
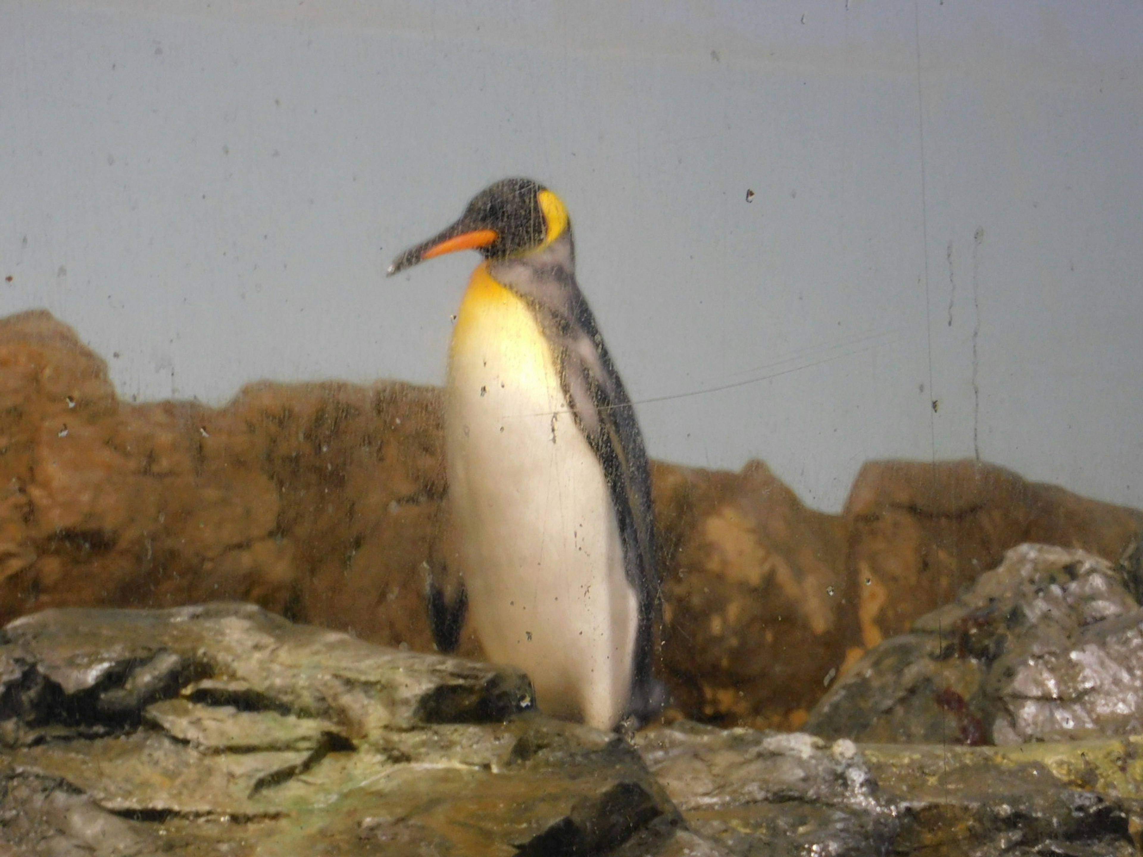
[[[846,576],[866,648],[952,601],[1009,547],[1036,542],[1114,561],[1143,528],[1137,510],[974,460],[870,462],[842,516]]]

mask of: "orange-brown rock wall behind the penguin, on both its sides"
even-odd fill
[[[227,406],[119,401],[46,312],[0,319],[0,623],[47,607],[239,599],[430,650],[442,555],[439,391],[247,386]],[[974,462],[871,463],[828,515],[753,462],[655,464],[661,668],[680,713],[797,727],[865,648],[1021,542],[1114,560],[1135,510]],[[473,636],[461,652],[479,656]]]

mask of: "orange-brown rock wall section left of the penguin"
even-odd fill
[[[241,599],[429,649],[440,417],[408,384],[128,405],[45,312],[0,321],[0,617]]]

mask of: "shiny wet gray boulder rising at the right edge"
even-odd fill
[[[1143,731],[1136,574],[1020,545],[913,633],[869,651],[806,729],[862,742],[978,745]]]

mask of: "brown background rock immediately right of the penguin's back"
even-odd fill
[[[804,506],[761,462],[740,473],[657,464],[654,478],[676,704],[709,721],[799,726],[856,634],[841,519]]]

